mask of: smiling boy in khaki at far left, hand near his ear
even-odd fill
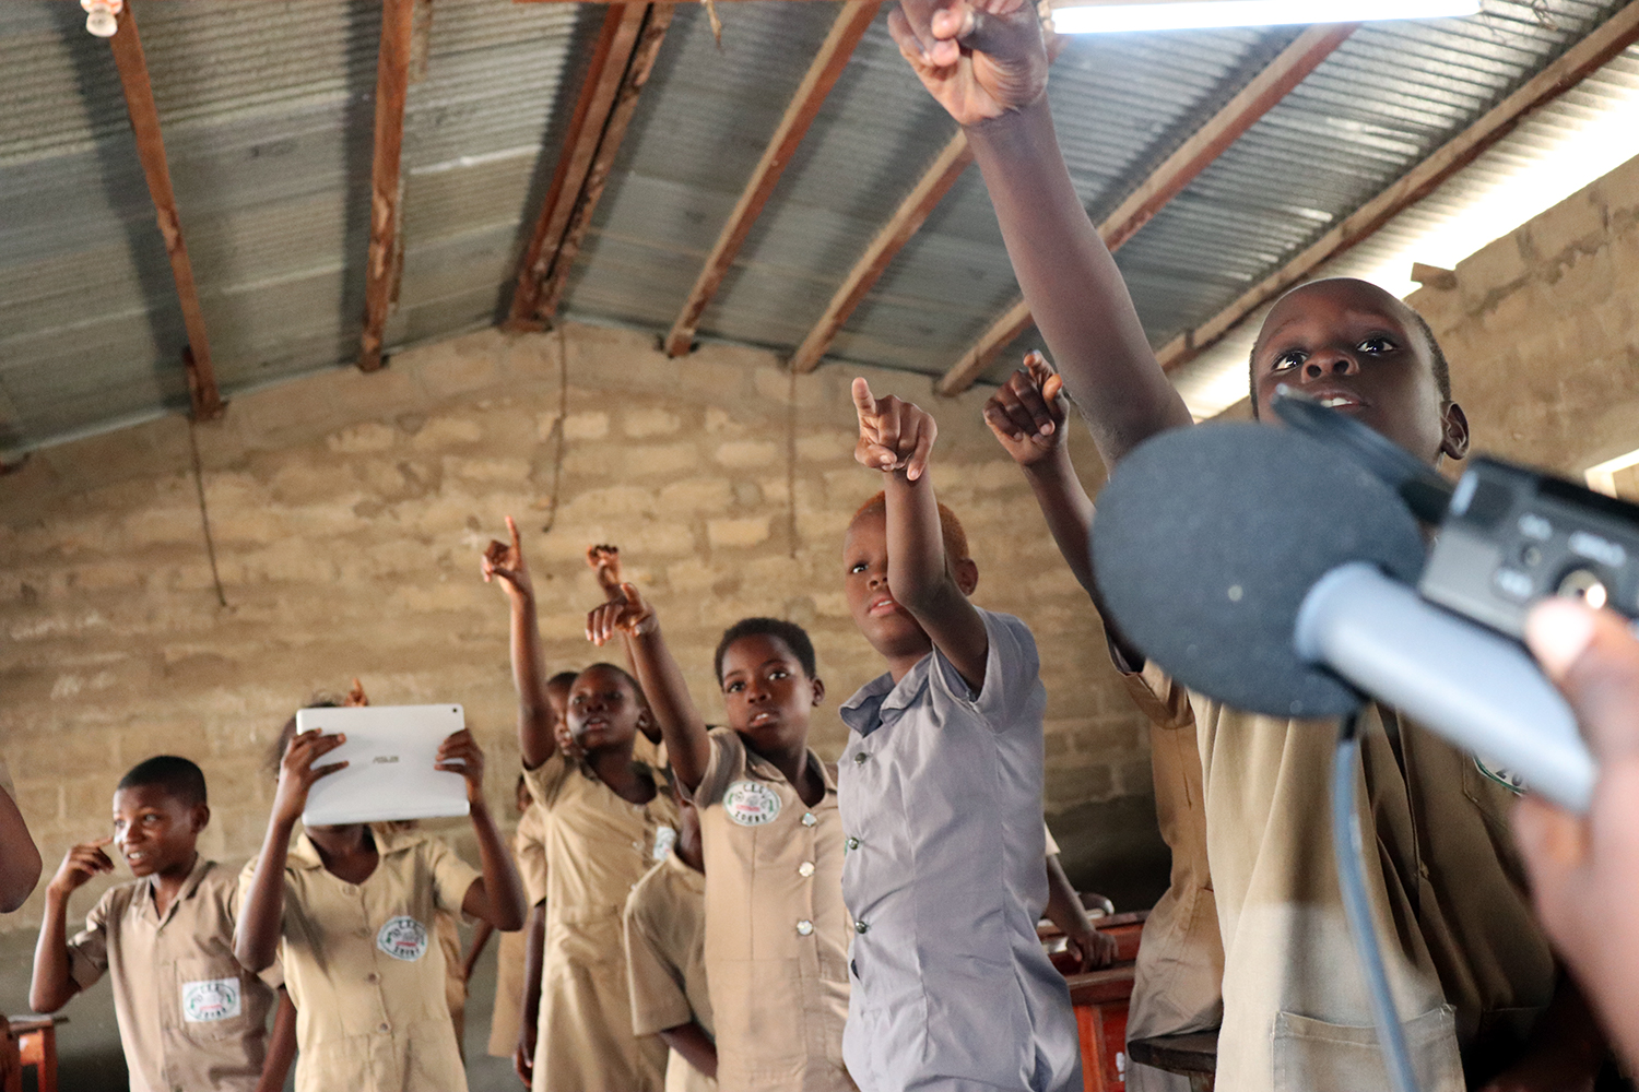
[[[269,1059],[264,1030],[279,969],[264,982],[233,956],[238,882],[195,850],[210,822],[198,766],[139,763],[115,791],[113,820],[113,838],[70,848],[51,879],[30,1004],[56,1012],[110,974],[131,1092],[284,1087],[288,1053]],[[113,871],[110,843],[136,881],[103,892],[69,940],[69,896]]]

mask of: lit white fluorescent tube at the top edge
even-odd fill
[[[1426,20],[1475,15],[1478,10],[1480,0],[1170,0],[1056,8],[1052,26],[1060,34],[1108,34],[1203,26]]]

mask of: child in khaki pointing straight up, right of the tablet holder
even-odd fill
[[[518,743],[529,794],[546,814],[546,945],[534,1092],[661,1092],[665,1043],[638,1038],[621,945],[626,897],[670,850],[674,807],[647,765],[633,758],[649,722],[638,684],[613,665],[575,678],[569,729],[582,756],[557,743],[546,693],[534,589],[518,526],[492,542],[484,578],[511,602]],[[664,833],[662,833],[664,828]]]

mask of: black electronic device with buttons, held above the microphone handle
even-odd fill
[[[1418,593],[1516,640],[1539,599],[1639,617],[1639,504],[1496,458],[1452,493]]]

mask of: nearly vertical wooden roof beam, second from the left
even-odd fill
[[[382,367],[382,332],[403,257],[405,92],[415,49],[415,0],[382,0],[382,44],[375,57],[375,156],[370,160],[370,250],[364,267],[364,334],[359,370]]]

